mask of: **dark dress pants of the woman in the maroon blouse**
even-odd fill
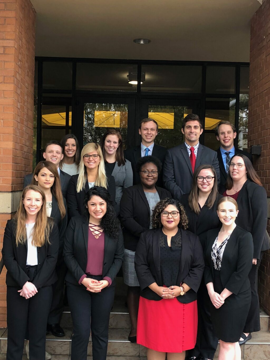
[[[101,276],[91,276],[101,280]],[[71,360],[86,360],[90,332],[92,335],[93,360],[106,360],[110,312],[115,286],[111,285],[99,293],[86,290],[84,285],[66,282],[73,336]]]

